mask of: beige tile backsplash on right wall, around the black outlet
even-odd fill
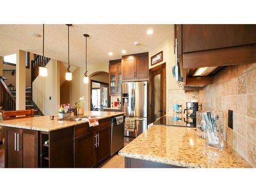
[[[228,66],[214,77],[214,84],[198,92],[203,110],[222,110],[224,138],[256,167],[256,63]],[[233,130],[228,127],[233,111]]]

